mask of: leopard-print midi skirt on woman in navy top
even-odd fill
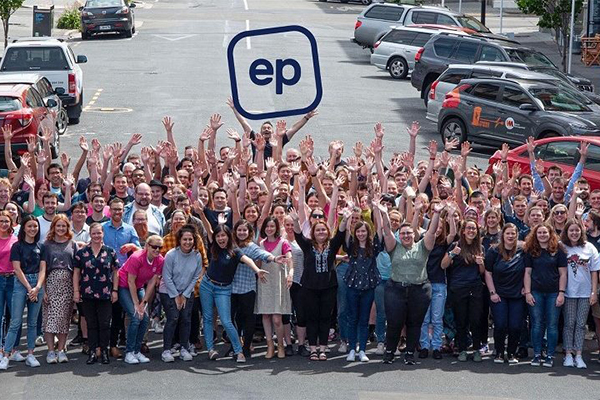
[[[73,275],[66,269],[53,269],[46,280],[48,302],[42,311],[44,333],[68,334],[73,314]]]

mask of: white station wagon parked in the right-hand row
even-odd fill
[[[433,35],[444,32],[444,27],[420,28],[399,26],[392,28],[375,43],[371,64],[389,71],[394,79],[404,79],[415,66],[415,54]],[[448,30],[446,30],[448,32]]]

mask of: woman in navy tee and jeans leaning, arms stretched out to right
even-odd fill
[[[235,247],[231,230],[226,225],[217,225],[212,234],[211,259],[208,270],[200,284],[204,338],[210,360],[216,360],[219,357],[213,342],[213,308],[216,306],[221,324],[231,340],[236,361],[246,362],[240,338],[231,322],[231,286],[240,262],[252,268],[261,281],[265,280],[268,272],[258,268],[254,261]]]

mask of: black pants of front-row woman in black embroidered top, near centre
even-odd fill
[[[308,336],[309,345],[316,346],[317,340],[319,345],[327,345],[336,296],[337,287],[327,289],[302,288],[302,301],[306,310],[310,310],[306,315],[306,335]]]

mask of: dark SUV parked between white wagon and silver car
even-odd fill
[[[516,62],[532,68],[556,66],[543,53],[521,46],[513,40],[488,39],[475,36],[442,33],[429,40],[415,56],[411,84],[421,92],[427,104],[430,85],[450,64]],[[540,71],[541,72],[541,71]]]

